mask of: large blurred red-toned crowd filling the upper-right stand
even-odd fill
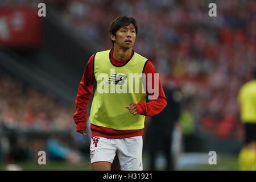
[[[217,17],[208,15],[210,2]],[[196,124],[220,139],[241,139],[237,93],[256,65],[256,1],[72,0],[58,7],[85,44],[98,42],[102,49],[111,47],[110,22],[133,16],[135,51],[192,98]]]

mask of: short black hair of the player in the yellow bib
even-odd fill
[[[113,22],[110,23],[109,26],[109,33],[115,36],[115,33],[122,28],[123,26],[127,26],[130,23],[133,24],[135,28],[136,34],[138,33],[138,27],[137,27],[137,22],[134,18],[128,17],[128,16],[119,16],[113,20]],[[112,44],[114,46],[114,41],[112,41]]]

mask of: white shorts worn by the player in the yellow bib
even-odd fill
[[[141,171],[142,144],[142,136],[119,139],[93,137],[90,143],[90,162],[112,164],[117,154],[121,170]]]

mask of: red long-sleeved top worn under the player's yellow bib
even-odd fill
[[[112,63],[116,66],[122,66],[126,64],[131,57],[129,57],[126,61],[118,61],[113,57],[113,49],[110,53],[110,59]],[[133,56],[133,53],[131,54]],[[78,93],[76,96],[76,113],[73,115],[73,119],[77,125],[77,131],[82,131],[86,129],[86,116],[87,116],[87,106],[89,104],[90,97],[93,94],[93,84],[95,80],[94,71],[93,71],[93,60],[94,55],[90,57],[88,63],[85,67],[84,73],[82,75]],[[157,73],[154,65],[150,61],[146,62],[143,73],[152,73],[152,77],[154,73]],[[147,77],[146,77],[147,78]],[[151,88],[154,88],[154,78],[152,80]],[[146,84],[151,84],[147,82]],[[146,94],[148,90],[146,90]],[[167,104],[167,98],[163,92],[162,84],[159,80],[159,97],[155,100],[150,100],[148,102],[139,102],[138,104],[134,104],[137,107],[137,113],[147,116],[153,116],[155,114],[160,113],[164,109]],[[143,135],[143,129],[140,130],[114,130],[107,127],[96,126],[92,123],[90,124],[90,129],[92,131],[92,137],[105,137],[105,138],[127,138],[127,137],[135,137],[138,135]]]

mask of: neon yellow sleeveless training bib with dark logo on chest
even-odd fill
[[[130,61],[116,67],[110,61],[110,50],[96,53],[94,76],[97,88],[89,117],[93,125],[116,130],[144,128],[145,116],[133,115],[125,106],[146,101],[141,76],[146,61],[145,57],[134,52]]]

